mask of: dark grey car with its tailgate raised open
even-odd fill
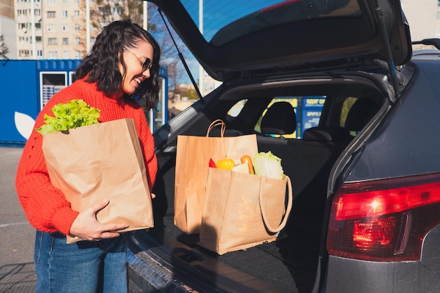
[[[155,228],[131,234],[131,292],[438,292],[440,51],[413,54],[400,1],[279,1],[209,37],[195,1],[152,2],[223,84],[154,134]],[[215,119],[282,159],[282,240],[220,256],[174,226],[176,138]]]

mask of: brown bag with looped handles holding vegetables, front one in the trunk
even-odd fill
[[[209,168],[199,245],[225,254],[274,241],[292,200],[288,176],[280,180]]]

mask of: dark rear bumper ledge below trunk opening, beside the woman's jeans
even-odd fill
[[[181,242],[165,246],[134,232],[128,247],[130,293],[297,293],[226,266]]]

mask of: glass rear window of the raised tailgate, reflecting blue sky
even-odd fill
[[[231,1],[229,5],[217,0],[182,0],[181,3],[200,27],[203,37],[214,46],[287,22],[361,15],[357,0],[253,0]]]

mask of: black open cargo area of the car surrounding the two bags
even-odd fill
[[[169,127],[157,131],[160,169],[153,190],[157,196],[153,200],[155,228],[133,233],[129,247],[133,253],[129,263],[136,268],[130,270],[132,292],[150,292],[141,288],[150,286],[158,268],[167,270],[171,279],[186,280],[200,292],[318,292],[325,273],[323,226],[327,225],[327,198],[340,184],[337,176],[344,164],[368,136],[368,131],[363,134],[365,126],[374,127],[370,125],[373,118],[383,115],[389,107],[387,95],[392,88],[389,84],[380,86],[382,78],[382,74],[377,78],[360,73],[322,75],[297,80],[291,77],[285,82],[266,81],[265,86],[257,82],[225,91],[220,88],[207,96],[206,105],[196,103],[173,119]],[[273,98],[286,96],[324,97],[320,126],[306,131],[303,138],[268,136],[255,131],[255,123]],[[240,114],[228,115],[228,110],[242,99],[247,101]],[[347,106],[350,100],[370,103]],[[349,117],[354,117],[351,122]],[[257,134],[259,151],[270,150],[282,159],[285,174],[292,180],[295,200],[280,240],[219,256],[198,245],[199,235],[186,235],[174,226],[176,135],[205,136],[214,119],[226,122],[228,135]],[[142,259],[142,265],[138,259]],[[153,275],[146,273],[149,269],[141,268],[145,263],[150,263],[150,268],[158,266],[150,272]],[[145,276],[139,275],[139,271],[145,271]],[[181,284],[176,287],[182,289]]]

